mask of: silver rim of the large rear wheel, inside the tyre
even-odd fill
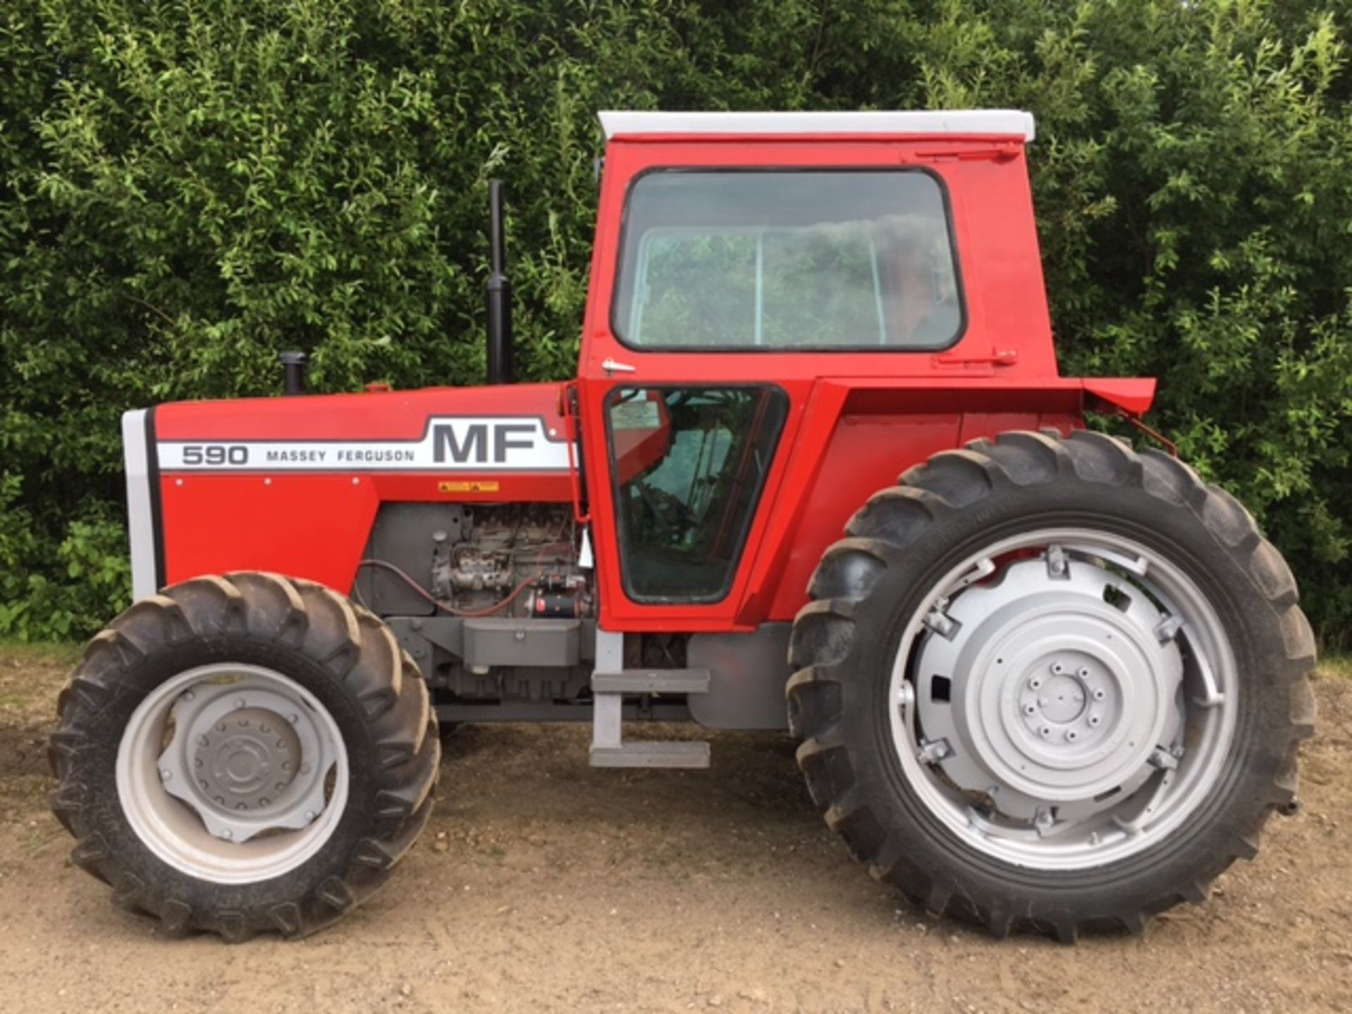
[[[1174,562],[1091,529],[1000,539],[909,619],[892,742],[926,808],[982,853],[1084,869],[1167,838],[1215,788],[1237,675]]]

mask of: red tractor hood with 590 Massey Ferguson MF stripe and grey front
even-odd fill
[[[387,500],[566,502],[562,393],[561,384],[514,384],[127,412],[135,596],[247,568],[346,587],[360,533]]]

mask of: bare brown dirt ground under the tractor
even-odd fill
[[[164,940],[72,867],[43,740],[69,657],[0,650],[0,1010],[1060,1011],[1352,1009],[1352,668],[1317,681],[1305,810],[1142,938],[994,942],[872,882],[779,735],[707,772],[587,767],[581,727],[449,741],[389,887],[283,944]]]

